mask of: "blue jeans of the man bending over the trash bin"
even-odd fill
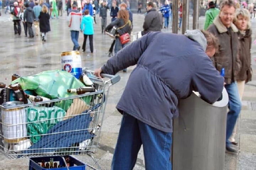
[[[123,113],[112,170],[133,169],[143,145],[146,170],[171,170],[172,133],[155,129]]]

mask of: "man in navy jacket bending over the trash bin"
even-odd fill
[[[116,107],[123,118],[112,170],[133,169],[141,145],[146,170],[172,169],[172,119],[178,116],[178,100],[193,90],[208,103],[222,94],[224,78],[207,56],[218,45],[208,35],[200,30],[187,30],[186,35],[150,32],[95,70],[100,77],[137,64]]]

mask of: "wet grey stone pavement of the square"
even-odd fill
[[[112,39],[101,34],[100,19],[96,16],[94,35],[94,53],[90,53],[89,40],[87,40],[86,52],[81,52],[82,65],[91,70],[101,67],[107,60],[107,51]],[[144,15],[133,15],[133,31],[142,29]],[[110,23],[110,17],[108,17]],[[203,28],[204,18],[199,18],[199,28]],[[60,53],[73,49],[66,15],[60,19],[50,20],[51,32],[48,34],[47,42],[42,42],[40,36],[33,39],[25,38],[22,25],[21,37],[14,35],[13,23],[9,15],[2,13],[0,17],[0,58],[1,70],[0,80],[6,84],[11,81],[14,73],[22,76],[33,75],[45,70],[60,69]],[[192,28],[192,18],[190,18]],[[252,30],[256,30],[256,19],[252,21]],[[163,30],[166,31],[166,30]],[[167,30],[171,32],[171,30]],[[256,39],[253,34],[252,39]],[[79,35],[79,44],[82,45],[83,36]],[[243,97],[243,107],[238,122],[238,134],[236,141],[239,142],[239,153],[236,155],[226,154],[225,170],[255,170],[256,169],[256,45],[252,44],[252,68],[254,70],[252,82],[246,84]],[[111,160],[121,123],[121,114],[115,106],[122,95],[129,74],[134,67],[129,67],[127,73],[119,72],[121,80],[111,87],[107,103],[106,113],[102,125],[99,148],[94,154],[98,164],[103,170],[111,169]],[[189,142],[188,142],[189,145]],[[152,152],[154,154],[154,152]],[[76,156],[85,163],[94,165],[92,159],[85,155]],[[138,154],[135,170],[144,168],[143,149]],[[28,159],[10,160],[0,155],[0,170],[28,169]]]

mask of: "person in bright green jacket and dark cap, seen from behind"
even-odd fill
[[[206,20],[204,22],[204,30],[207,30],[207,28],[213,23],[214,18],[219,15],[219,9],[215,8],[214,2],[210,1],[209,9],[206,11]]]

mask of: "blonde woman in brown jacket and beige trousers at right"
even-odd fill
[[[245,83],[251,81],[252,72],[251,72],[251,34],[252,31],[250,29],[250,12],[245,9],[236,9],[234,24],[239,29],[239,41],[241,45],[240,51],[240,60],[241,60],[241,69],[237,75],[237,84],[238,84],[238,92],[240,99],[242,100],[242,96],[244,93]],[[233,133],[229,138],[229,141],[234,145],[237,145],[235,142],[235,133],[236,133],[236,125],[234,127]]]

